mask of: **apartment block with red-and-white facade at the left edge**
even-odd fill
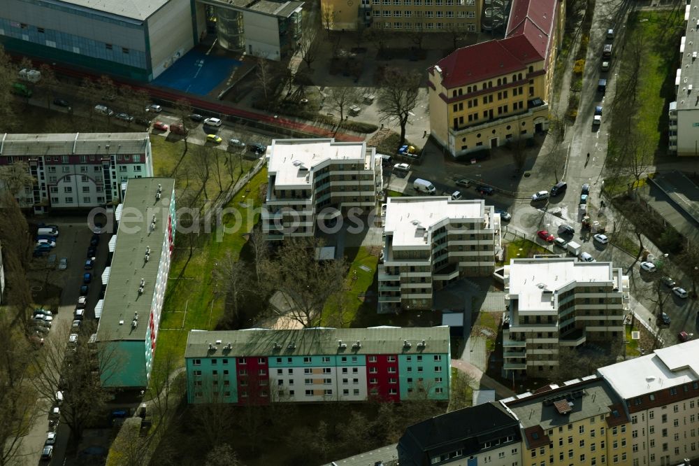
[[[34,177],[16,195],[34,213],[119,202],[122,182],[153,176],[148,133],[3,134],[0,165],[15,162]]]

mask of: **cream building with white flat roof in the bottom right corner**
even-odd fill
[[[633,466],[699,458],[699,341],[597,369],[626,403]]]

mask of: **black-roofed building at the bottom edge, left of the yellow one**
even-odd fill
[[[519,465],[519,421],[500,402],[458,409],[411,425],[398,441],[398,463]]]

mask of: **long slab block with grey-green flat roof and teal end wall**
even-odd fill
[[[143,388],[152,370],[175,241],[175,181],[129,180],[117,213],[111,263],[102,274],[106,291],[96,337],[106,347],[101,381],[109,388]]]

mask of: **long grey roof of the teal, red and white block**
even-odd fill
[[[421,342],[425,341],[425,346]],[[220,341],[220,343],[217,343]],[[339,342],[341,341],[341,343]],[[356,342],[361,346],[356,346]],[[405,344],[408,341],[408,344]],[[217,349],[211,351],[209,344]],[[224,350],[228,344],[230,350]],[[345,348],[340,345],[345,344]],[[449,327],[309,328],[189,332],[185,358],[207,356],[298,356],[431,354],[449,352]]]

